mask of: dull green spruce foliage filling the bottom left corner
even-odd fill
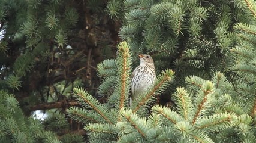
[[[7,91],[0,91],[1,142],[60,142],[55,133],[45,131],[40,120],[25,117],[19,102]]]

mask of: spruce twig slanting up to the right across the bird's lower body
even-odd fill
[[[135,103],[137,104],[132,104],[134,106],[132,106],[132,113],[136,113],[143,105],[145,105],[147,103],[147,101],[150,100],[150,98],[152,98],[153,96],[156,95],[157,92],[162,92],[168,83],[170,83],[173,80],[174,76],[174,72],[170,69],[167,69],[165,71],[162,71],[162,74],[160,76],[158,76],[158,81],[156,81],[155,86],[153,87],[153,89],[151,89],[146,96],[141,97],[140,99],[138,99],[138,102],[135,101]]]

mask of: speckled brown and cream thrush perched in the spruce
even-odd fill
[[[156,80],[153,58],[146,54],[138,54],[138,57],[140,65],[132,72],[130,105],[135,97],[147,91]]]

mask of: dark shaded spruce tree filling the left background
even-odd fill
[[[104,15],[104,4],[0,1],[0,96],[12,97],[1,100],[0,142],[85,141],[66,110],[78,105],[71,97],[74,87],[96,93],[95,67],[113,56],[115,23]],[[47,118],[35,119],[36,110]]]

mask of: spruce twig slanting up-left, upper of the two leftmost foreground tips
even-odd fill
[[[98,113],[104,120],[108,123],[113,124],[113,120],[110,120],[109,117],[106,116],[106,113],[109,111],[103,104],[100,104],[89,92],[85,91],[81,87],[74,88],[74,94],[77,96],[78,101],[82,104],[83,107],[88,108],[91,107],[96,113]]]

